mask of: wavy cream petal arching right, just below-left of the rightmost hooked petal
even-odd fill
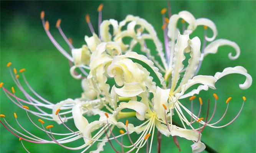
[[[182,85],[180,93],[175,93],[175,97],[177,99],[182,96],[185,91],[187,91],[191,86],[196,85],[196,84],[202,84],[210,87],[211,89],[216,89],[215,88],[215,82],[217,79],[213,76],[208,76],[208,75],[197,75],[193,77],[192,79],[188,80],[188,82],[185,85]],[[174,94],[174,93],[172,93]]]

